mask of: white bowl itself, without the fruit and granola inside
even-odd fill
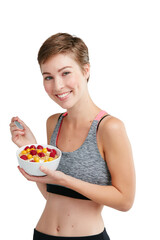
[[[41,145],[44,148],[48,147],[50,149],[55,149],[57,151],[58,158],[56,158],[55,160],[50,161],[50,162],[28,162],[28,161],[25,161],[22,158],[20,158],[19,154],[21,153],[21,151],[23,151],[25,147],[27,147],[27,146],[30,147],[31,145],[34,145],[35,147],[37,147],[38,145]],[[23,168],[26,173],[28,173],[29,175],[33,175],[33,176],[45,176],[46,174],[40,171],[40,169],[39,169],[40,166],[45,166],[45,167],[49,168],[50,170],[56,170],[59,165],[62,153],[58,148],[51,146],[51,145],[28,144],[26,146],[19,148],[16,152],[16,155],[18,158],[19,166],[21,168]]]

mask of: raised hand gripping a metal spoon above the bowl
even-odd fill
[[[18,128],[14,121],[18,121],[22,126],[23,129]],[[27,144],[36,144],[36,138],[29,129],[29,127],[18,117],[13,117],[10,123],[10,131],[12,135],[12,141],[18,146],[22,147]]]

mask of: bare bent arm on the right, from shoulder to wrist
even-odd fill
[[[131,146],[124,124],[106,119],[99,128],[103,151],[112,177],[112,186],[100,186],[67,176],[65,185],[90,198],[120,211],[131,208],[135,195],[135,172]]]

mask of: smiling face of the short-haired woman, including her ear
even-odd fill
[[[49,97],[64,109],[82,101],[88,93],[89,64],[80,68],[70,54],[57,54],[41,64],[44,88]]]

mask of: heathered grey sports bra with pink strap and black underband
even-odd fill
[[[60,115],[51,136],[50,145],[57,147],[58,136],[67,112]],[[100,121],[109,116],[105,111],[100,111],[93,120],[88,135],[83,144],[73,152],[63,152],[57,168],[58,171],[98,185],[111,185],[111,175],[106,161],[102,158],[97,146],[97,129]],[[47,184],[47,192],[68,196],[77,199],[90,200],[82,194],[56,184]]]

